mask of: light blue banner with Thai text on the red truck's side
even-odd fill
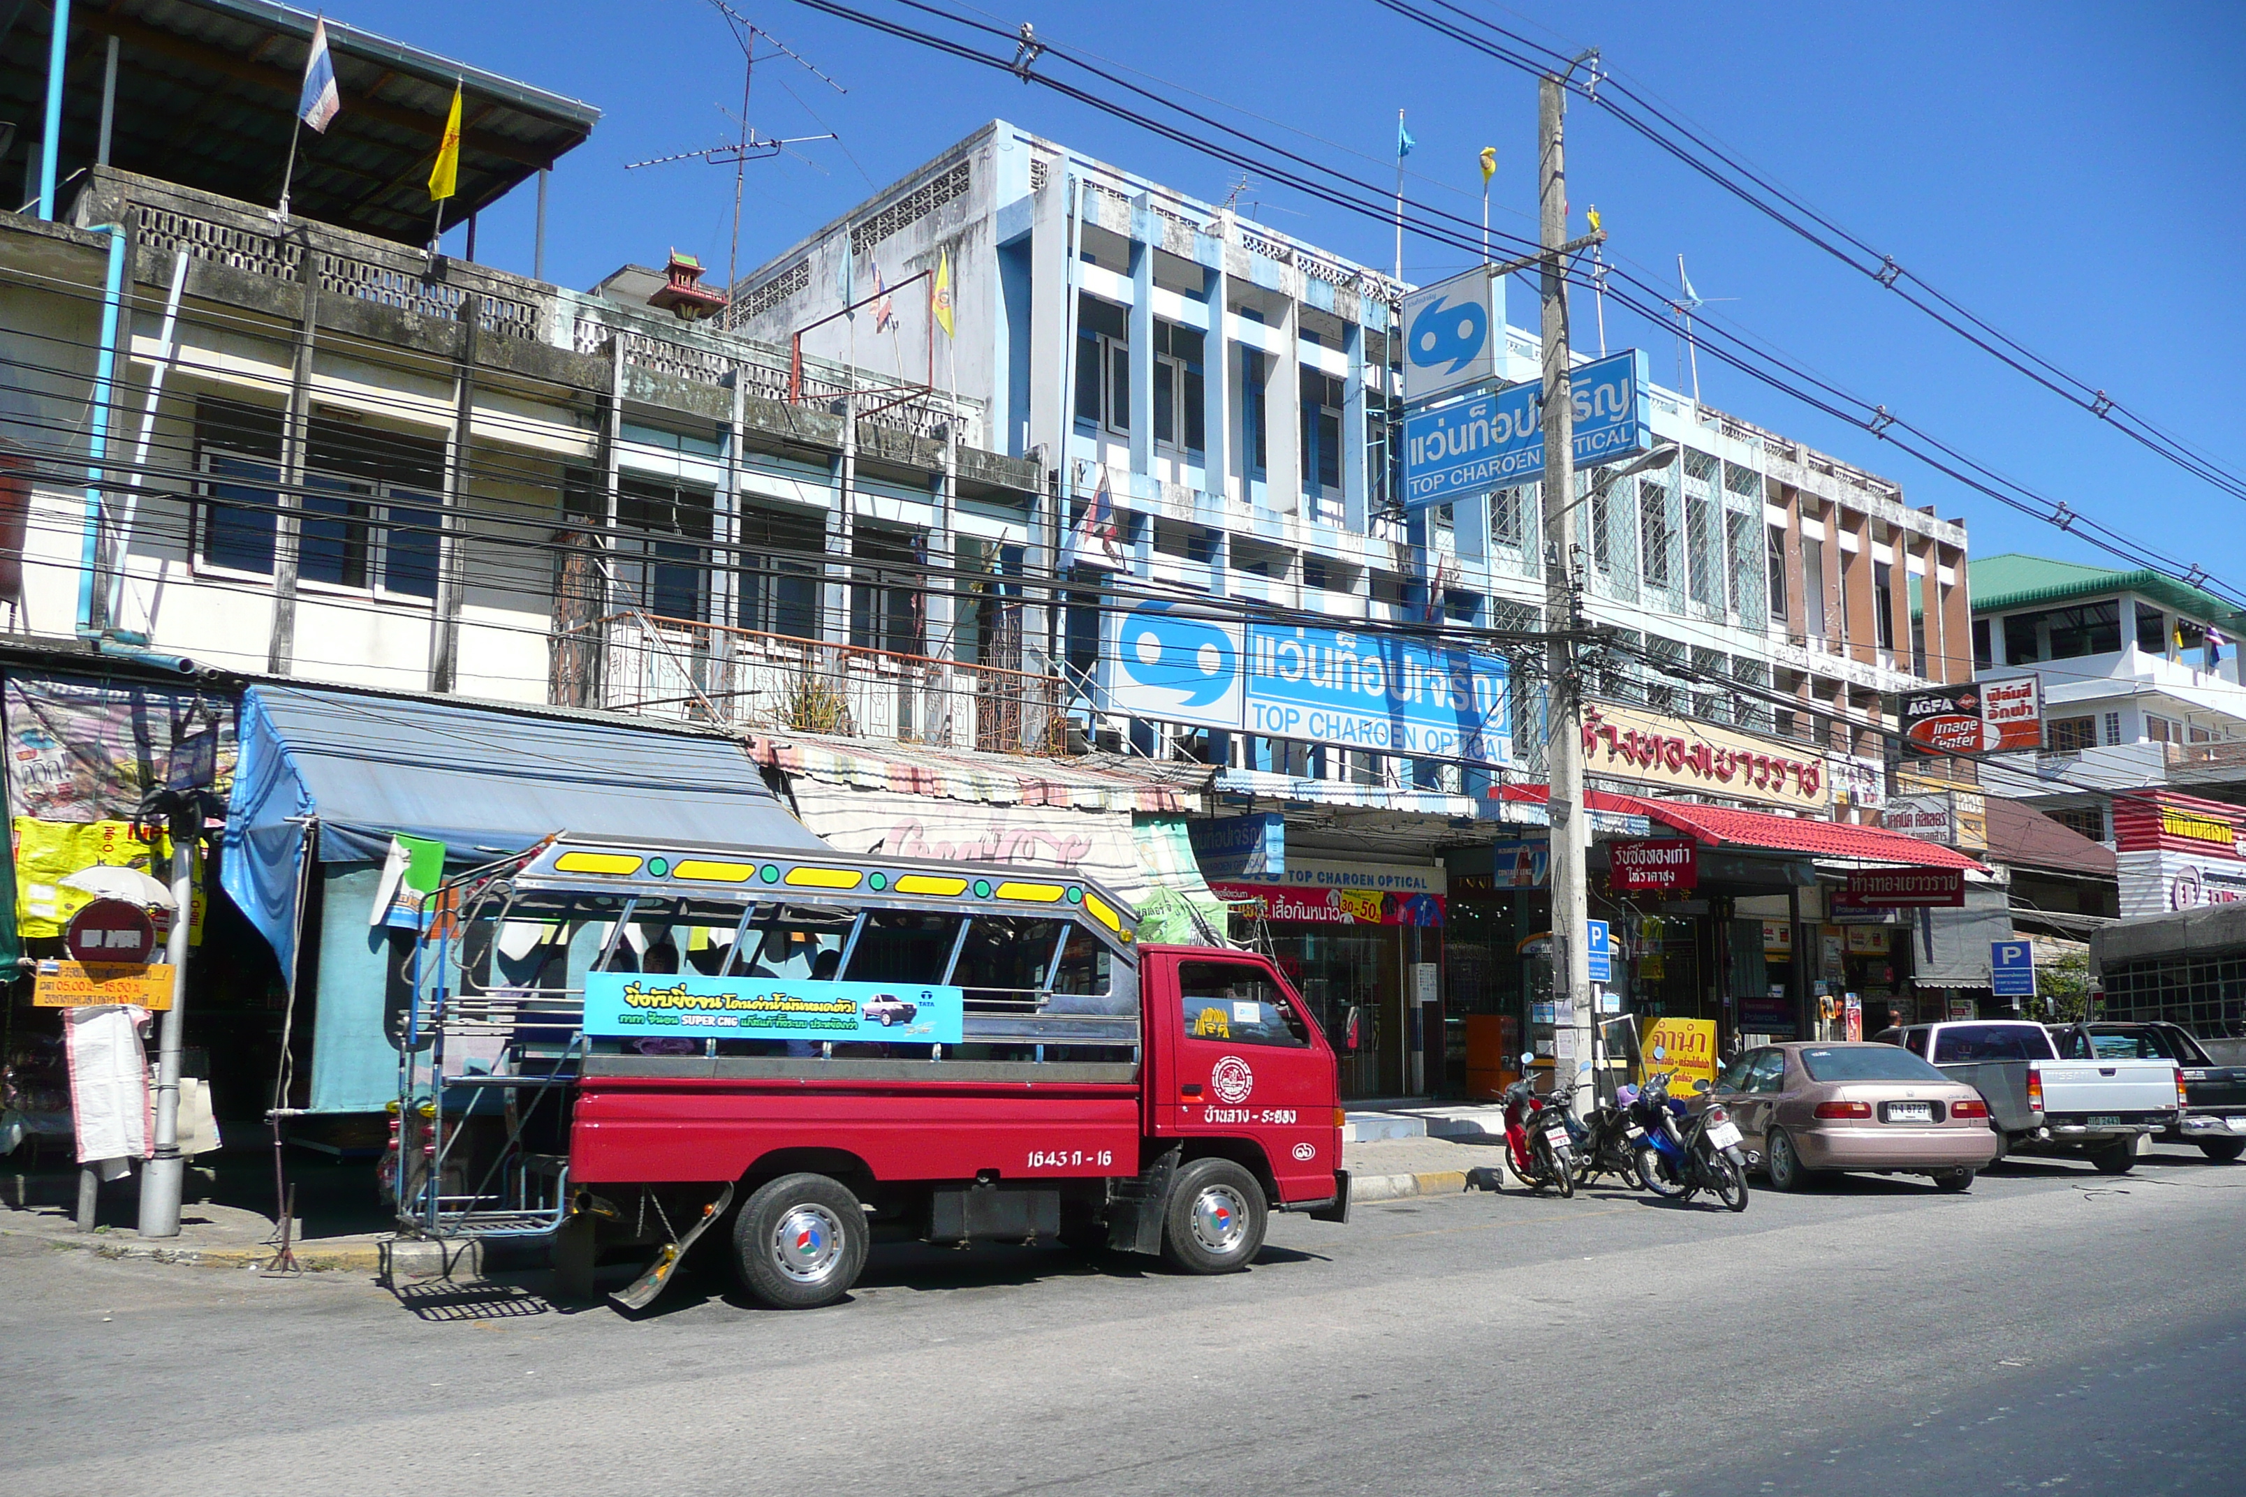
[[[961,1044],[964,992],[692,972],[586,972],[584,1032],[604,1039],[910,1039]]]

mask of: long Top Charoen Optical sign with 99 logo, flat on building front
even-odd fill
[[[1116,624],[1110,709],[1370,754],[1512,763],[1500,655],[1375,631],[1139,604]]]

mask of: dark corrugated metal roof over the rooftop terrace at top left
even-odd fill
[[[110,159],[254,204],[281,195],[312,13],[270,0],[112,0],[74,7],[61,168],[88,166],[101,119],[108,38],[119,40]],[[0,34],[0,119],[25,121],[0,182],[20,182],[45,108],[49,20],[18,13]],[[429,164],[458,81],[463,141],[454,224],[503,198],[591,135],[600,110],[562,94],[328,20],[344,110],[303,130],[292,209],[301,218],[420,245],[433,202]],[[67,204],[72,193],[63,193]],[[7,202],[4,206],[16,206]]]

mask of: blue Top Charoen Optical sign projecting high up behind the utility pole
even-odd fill
[[[1653,447],[1646,355],[1637,348],[1568,375],[1574,465],[1599,467]],[[1543,386],[1516,384],[1404,417],[1404,507],[1509,489],[1543,478]]]

